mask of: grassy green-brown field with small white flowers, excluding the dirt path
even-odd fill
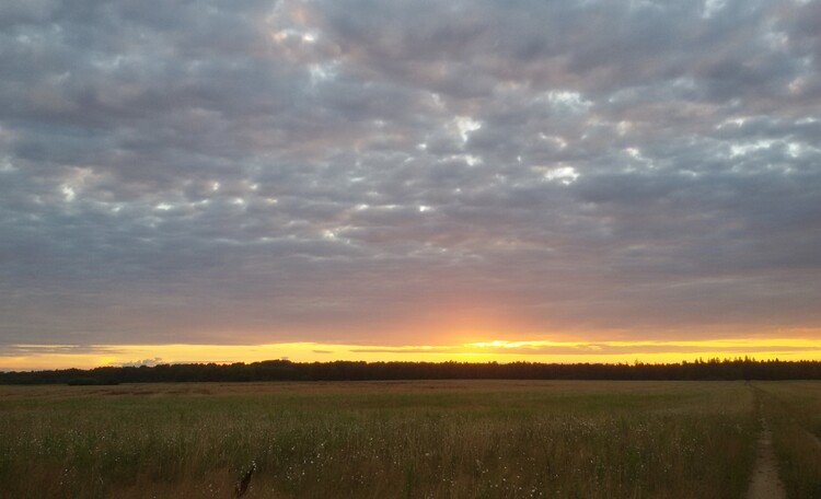
[[[821,497],[819,382],[0,386],[0,497]]]

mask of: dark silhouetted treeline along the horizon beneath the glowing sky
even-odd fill
[[[819,380],[820,361],[710,359],[695,362],[473,363],[473,362],[291,362],[161,364],[0,373],[0,384],[95,385],[196,381],[377,381],[377,380]]]

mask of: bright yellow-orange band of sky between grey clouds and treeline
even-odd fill
[[[374,346],[320,343],[267,345],[19,345],[0,351],[0,369],[92,369],[155,363],[231,363],[288,359],[314,361],[677,363],[697,359],[821,360],[821,340],[731,338],[670,341],[487,340],[453,345]]]

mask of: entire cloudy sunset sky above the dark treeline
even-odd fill
[[[819,26],[4,0],[0,369],[821,359]]]

